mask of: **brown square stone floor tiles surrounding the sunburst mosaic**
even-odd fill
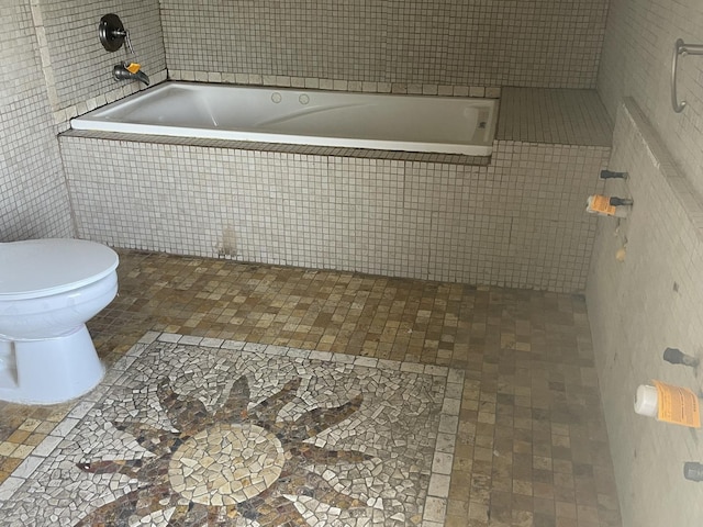
[[[450,478],[435,482],[446,485],[445,525],[620,525],[581,296],[137,251],[120,256],[120,295],[89,324],[107,365],[121,365],[152,330],[449,367],[462,373],[464,385],[451,468],[445,470]],[[192,389],[204,390],[205,382]],[[62,436],[66,417],[80,415],[93,395],[47,407],[0,403],[0,481],[35,469],[32,460],[46,455],[35,447]],[[105,461],[86,459],[83,468]],[[437,462],[433,473],[443,474]],[[2,493],[0,486],[0,498]]]

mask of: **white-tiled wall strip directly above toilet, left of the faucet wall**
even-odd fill
[[[71,236],[30,3],[1,9],[0,242]]]

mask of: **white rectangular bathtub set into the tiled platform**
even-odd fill
[[[498,101],[164,82],[71,120],[75,130],[489,156]]]

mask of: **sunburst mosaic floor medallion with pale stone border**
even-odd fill
[[[2,525],[442,525],[462,373],[149,333],[0,486]]]

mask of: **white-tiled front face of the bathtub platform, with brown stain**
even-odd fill
[[[79,235],[116,247],[579,291],[606,147],[488,167],[62,136]],[[97,170],[96,167],[103,167]]]

